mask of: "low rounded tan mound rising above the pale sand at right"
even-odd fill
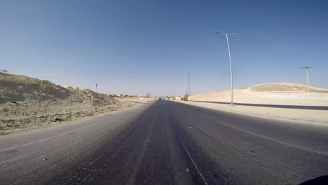
[[[299,91],[299,90],[308,90],[307,85],[299,83],[264,83],[253,85],[249,88],[252,91]]]

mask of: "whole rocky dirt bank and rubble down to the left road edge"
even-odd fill
[[[133,104],[88,89],[0,73],[0,135],[104,114]]]

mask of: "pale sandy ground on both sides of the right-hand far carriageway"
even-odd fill
[[[296,83],[268,83],[254,85],[248,89],[233,90],[234,102],[247,104],[282,104],[303,106],[328,106],[328,90],[322,88],[310,88]],[[189,100],[210,102],[231,102],[231,91],[221,93],[200,94],[189,97]],[[182,101],[179,101],[182,102]],[[328,111],[282,109],[271,107],[250,107],[228,104],[211,104],[204,102],[183,102],[199,107],[234,111],[243,114],[254,114],[273,118],[287,118],[296,121],[310,121],[328,123]]]

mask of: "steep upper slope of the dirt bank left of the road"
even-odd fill
[[[0,103],[22,101],[60,101],[112,104],[117,102],[110,95],[92,90],[76,90],[70,86],[60,86],[50,81],[15,74],[0,74]]]

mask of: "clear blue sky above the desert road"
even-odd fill
[[[0,69],[102,93],[328,88],[328,1],[0,1]]]

